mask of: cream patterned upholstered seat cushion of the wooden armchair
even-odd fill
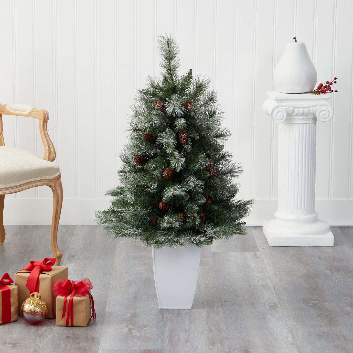
[[[40,179],[54,179],[60,175],[59,164],[43,160],[35,154],[0,146],[0,188]]]

